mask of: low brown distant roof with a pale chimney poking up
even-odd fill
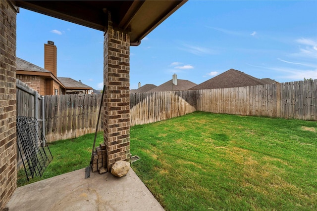
[[[188,90],[195,85],[197,84],[190,82],[188,80],[181,80],[181,79],[177,79],[177,85],[174,85],[173,80],[170,80],[164,84],[159,85],[158,87],[155,87],[149,90],[148,92]]]

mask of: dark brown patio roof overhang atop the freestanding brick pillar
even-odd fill
[[[152,30],[187,0],[16,0],[16,6],[93,29],[106,31],[110,13],[113,27],[130,34],[139,45]]]

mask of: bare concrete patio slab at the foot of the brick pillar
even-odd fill
[[[9,211],[163,211],[133,169],[123,177],[75,170],[19,187]]]

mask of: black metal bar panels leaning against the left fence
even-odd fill
[[[17,117],[16,127],[17,145],[27,179],[42,176],[53,156],[38,121],[33,117]]]

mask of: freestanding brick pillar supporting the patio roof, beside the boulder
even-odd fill
[[[104,143],[108,171],[116,161],[130,162],[130,36],[108,28],[104,39]]]

